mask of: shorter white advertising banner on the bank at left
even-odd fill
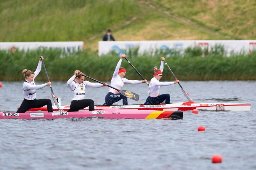
[[[63,42],[0,42],[0,50],[34,50],[36,48],[61,48],[66,52],[84,49],[83,41]]]

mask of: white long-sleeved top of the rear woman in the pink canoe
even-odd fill
[[[39,61],[36,71],[34,72],[35,73],[34,80],[35,80],[36,76],[39,74],[39,72],[41,71],[41,66],[42,66],[42,61]],[[23,83],[23,94],[24,94],[24,98],[27,100],[36,99],[36,90],[42,89],[43,87],[47,86],[46,83],[41,84],[41,85],[36,85],[34,80],[28,81],[26,79]]]

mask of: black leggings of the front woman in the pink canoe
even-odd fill
[[[72,100],[68,111],[79,111],[89,106],[89,110],[94,110],[94,101],[91,99]]]

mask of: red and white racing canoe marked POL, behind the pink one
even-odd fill
[[[70,106],[60,106],[63,111],[67,111]],[[101,106],[96,105],[95,110],[101,109],[138,109],[138,110],[161,110],[161,111],[189,111],[193,109],[207,110],[207,111],[250,111],[251,104],[240,104],[240,103],[193,103],[193,102],[180,102],[170,104],[156,104],[156,105],[112,105],[112,106]],[[34,108],[29,111],[47,111],[47,107]],[[88,107],[82,109],[88,110]],[[58,111],[57,107],[53,106],[53,111]]]

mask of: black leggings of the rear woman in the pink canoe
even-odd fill
[[[34,100],[24,99],[20,105],[20,108],[16,111],[16,113],[25,113],[26,111],[28,111],[31,108],[43,107],[45,105],[47,105],[48,112],[53,112],[50,99],[38,99],[38,100],[37,99],[34,99]]]

